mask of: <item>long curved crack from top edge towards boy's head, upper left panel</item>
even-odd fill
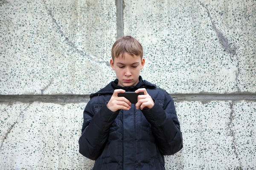
[[[109,64],[108,62],[106,62],[106,61],[99,61],[99,60],[95,59],[95,57],[93,57],[92,54],[87,54],[86,52],[77,49],[75,43],[72,42],[72,41],[70,41],[69,38],[66,37],[66,35],[64,34],[64,32],[61,30],[61,27],[59,26],[59,24],[57,23],[57,21],[54,19],[53,15],[52,15],[52,10],[47,7],[47,4],[45,3],[45,0],[42,0],[42,1],[43,1],[44,5],[45,5],[45,8],[46,8],[47,11],[48,11],[49,16],[52,18],[52,23],[54,23],[54,24],[57,26],[59,33],[60,33],[63,37],[65,37],[65,41],[67,42],[67,44],[68,44],[74,51],[76,51],[76,53],[80,54],[80,55],[83,56],[83,57],[87,57],[87,58],[91,59],[93,62],[104,63],[104,64],[106,64],[107,66],[110,66],[110,64]]]

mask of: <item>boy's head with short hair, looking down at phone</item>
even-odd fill
[[[131,36],[121,37],[113,44],[111,55],[110,64],[116,72],[118,85],[136,85],[139,82],[140,70],[145,64],[140,42]]]

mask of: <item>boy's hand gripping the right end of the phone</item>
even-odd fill
[[[152,100],[151,96],[149,96],[148,92],[145,88],[139,88],[135,93],[144,92],[144,95],[138,96],[138,102],[136,103],[136,109],[151,109],[154,106],[154,101]]]

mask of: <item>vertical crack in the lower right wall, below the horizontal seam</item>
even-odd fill
[[[233,147],[234,147],[234,152],[236,154],[236,159],[238,159],[238,161],[239,161],[239,167],[237,167],[237,170],[242,170],[241,160],[240,160],[237,150],[236,150],[236,139],[235,139],[236,132],[235,132],[235,130],[232,129],[233,120],[235,117],[233,106],[234,106],[234,102],[232,101],[232,102],[230,102],[230,110],[231,110],[230,117],[229,117],[230,121],[227,122],[227,127],[229,128],[230,134],[232,136],[232,143],[233,143]]]

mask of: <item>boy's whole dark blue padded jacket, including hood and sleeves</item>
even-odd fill
[[[180,123],[172,97],[143,80],[133,87],[121,87],[118,80],[96,94],[84,110],[79,152],[96,160],[93,170],[165,170],[164,156],[183,147]],[[153,108],[112,112],[106,103],[115,89],[135,91],[146,88],[154,100]]]

